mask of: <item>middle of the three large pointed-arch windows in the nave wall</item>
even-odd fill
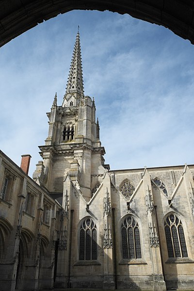
[[[121,225],[123,259],[142,258],[139,226],[132,216],[127,216]]]

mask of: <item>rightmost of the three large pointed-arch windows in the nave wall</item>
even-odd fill
[[[188,257],[184,231],[180,219],[170,214],[164,223],[169,258]]]

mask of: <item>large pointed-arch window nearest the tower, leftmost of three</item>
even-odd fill
[[[86,218],[80,227],[80,260],[97,259],[97,226]]]

